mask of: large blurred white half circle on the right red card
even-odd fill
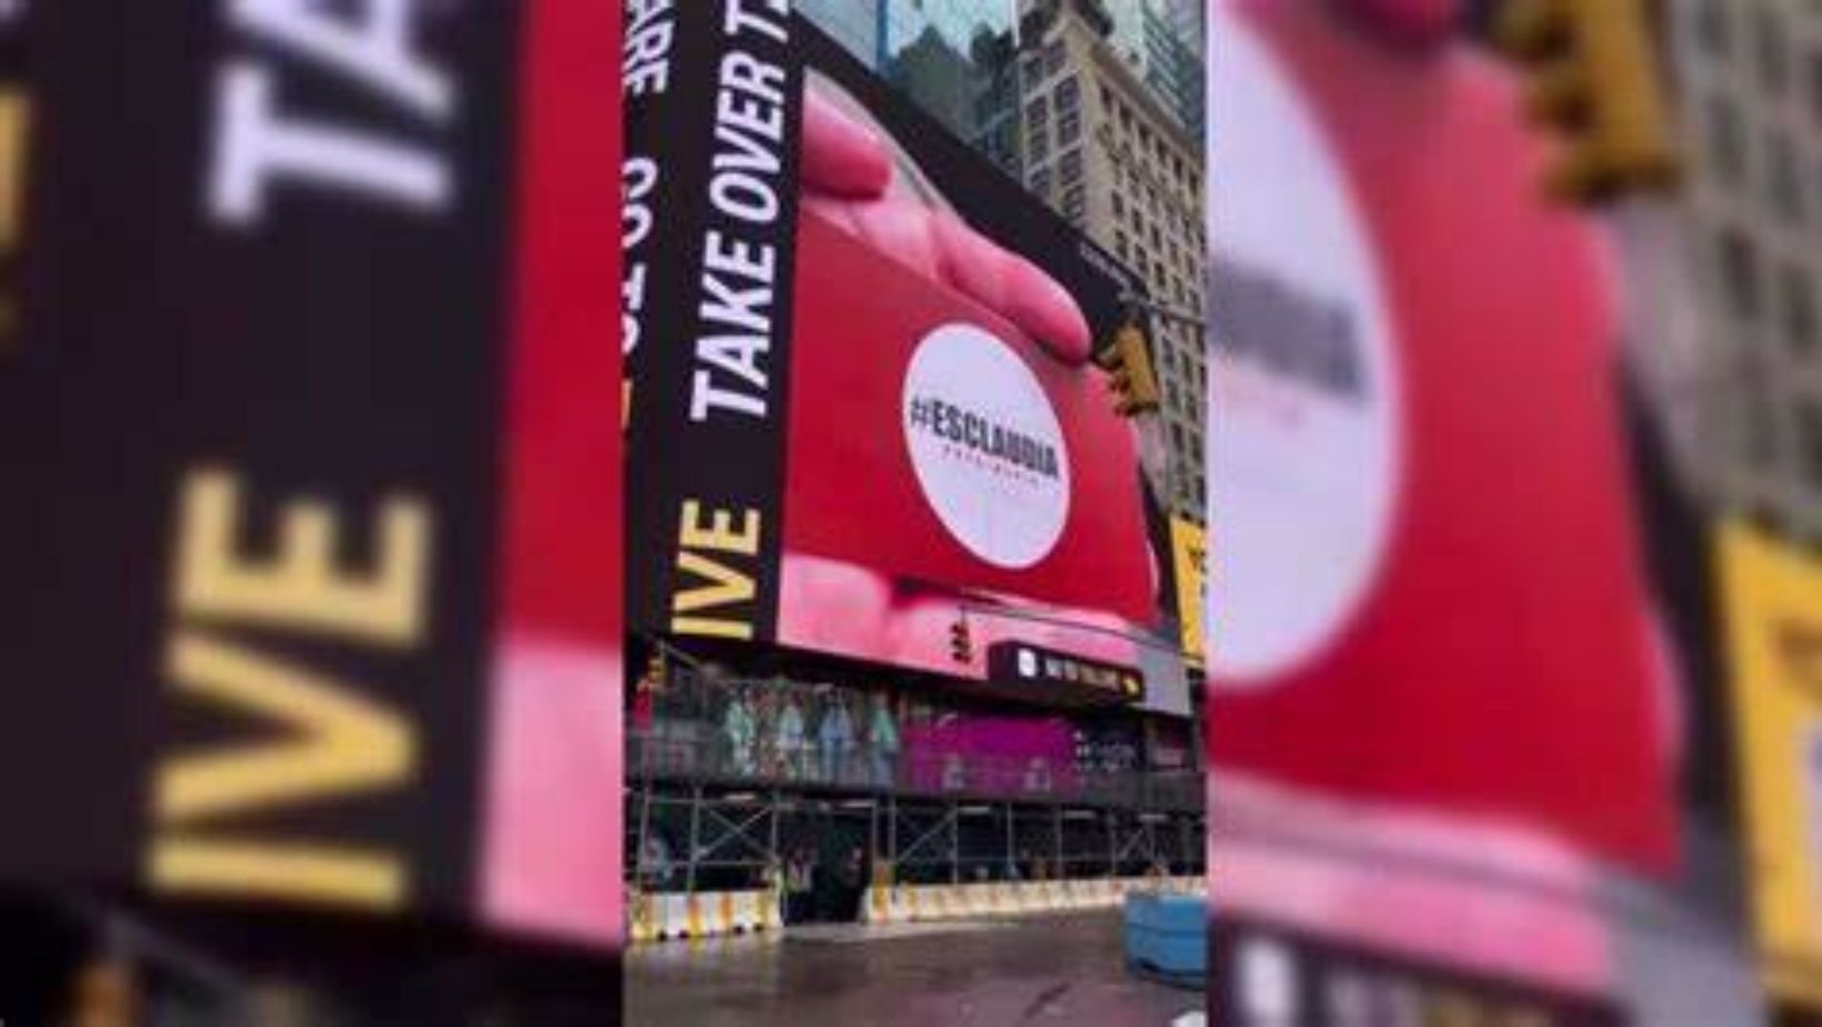
[[[1263,688],[1359,613],[1392,538],[1401,407],[1381,275],[1295,82],[1213,4],[1212,677]]]

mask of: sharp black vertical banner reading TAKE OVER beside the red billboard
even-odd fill
[[[771,638],[800,26],[785,0],[625,11],[629,624]]]

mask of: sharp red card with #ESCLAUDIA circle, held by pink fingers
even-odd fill
[[[798,223],[787,553],[1155,617],[1131,431],[1100,376]]]

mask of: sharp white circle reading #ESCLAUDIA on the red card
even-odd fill
[[[1070,452],[1037,374],[991,332],[944,325],[911,354],[904,436],[924,500],[964,549],[1031,567],[1070,520]]]

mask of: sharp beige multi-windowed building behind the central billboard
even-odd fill
[[[1203,137],[1113,33],[1097,0],[1028,0],[1018,62],[1026,186],[1133,268],[1153,301],[1199,316],[1208,281]],[[1203,82],[1193,88],[1201,93]],[[1153,319],[1166,491],[1173,509],[1197,518],[1208,494],[1203,336],[1192,323]]]

